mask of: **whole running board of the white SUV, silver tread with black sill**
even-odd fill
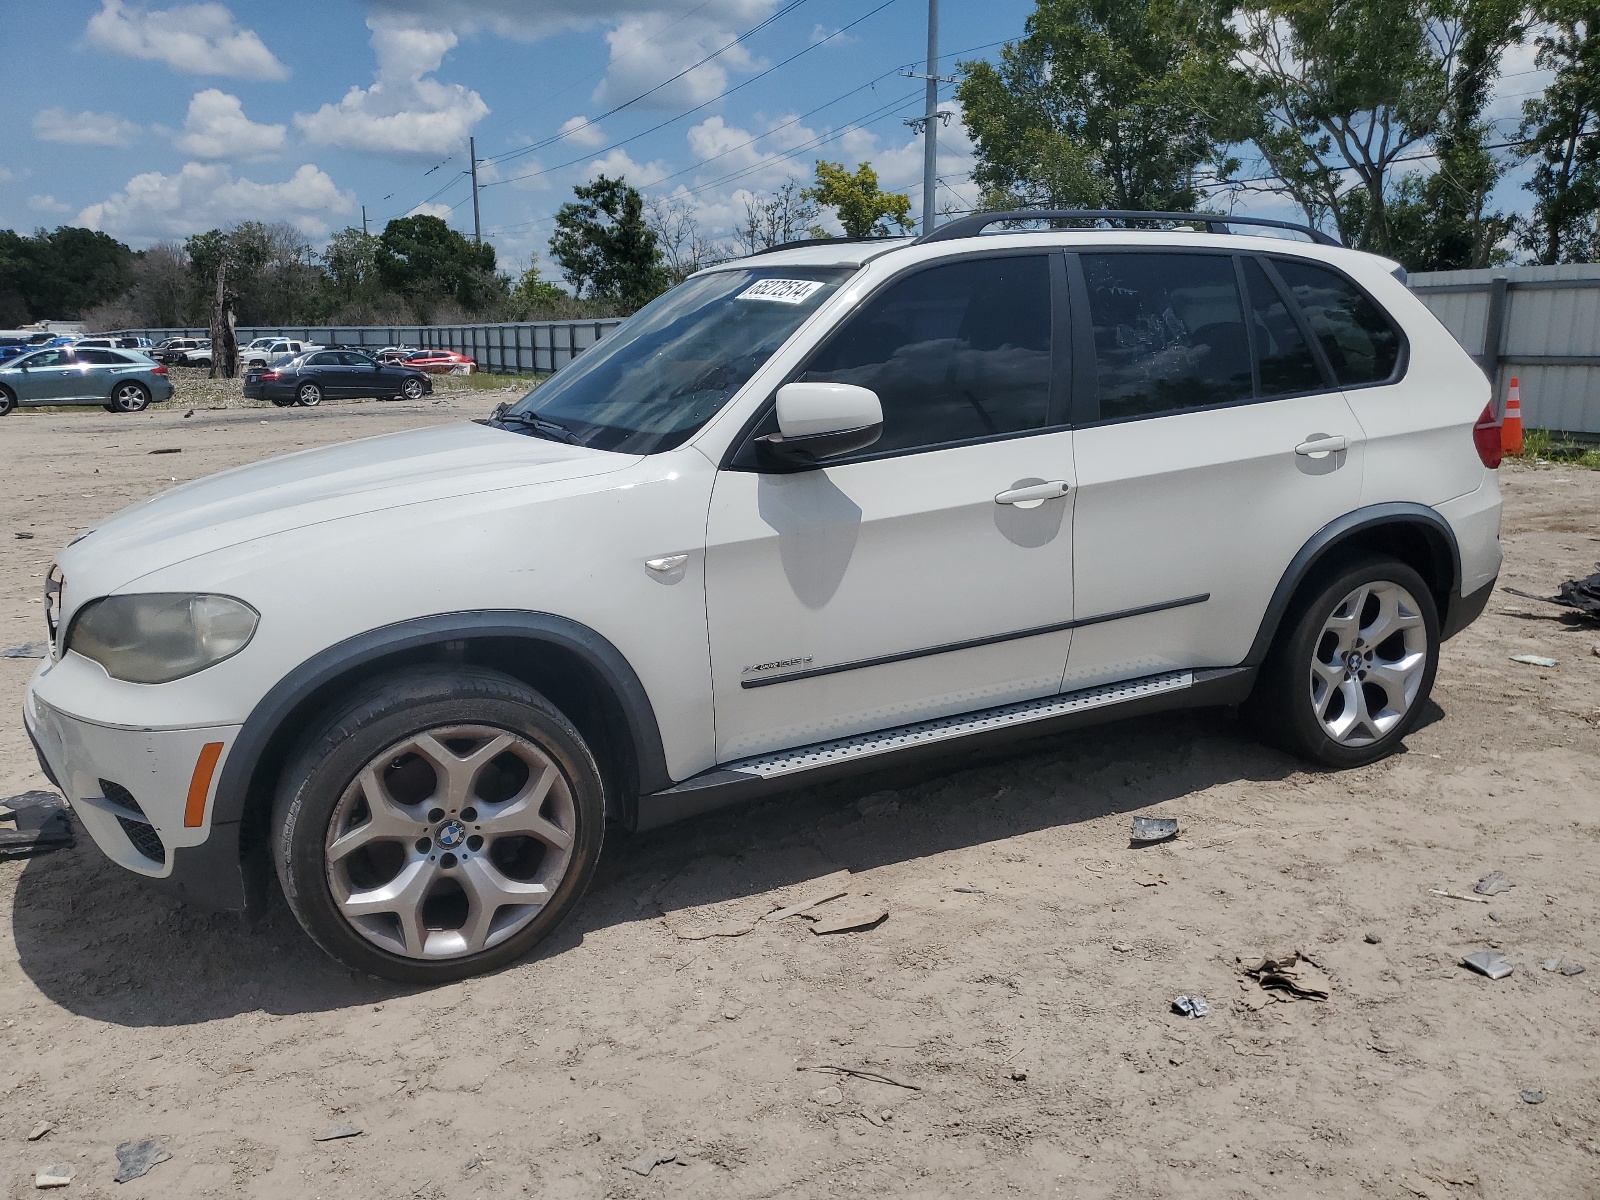
[[[758,754],[712,768],[666,790],[642,795],[635,827],[654,829],[757,795],[886,766],[890,760],[947,754],[950,749],[947,744],[968,738],[979,742],[1013,741],[1141,712],[1238,704],[1250,693],[1254,675],[1253,667],[1170,670],[1122,683],[1104,683],[1058,696],[898,725],[891,730],[835,738],[792,750]]]

